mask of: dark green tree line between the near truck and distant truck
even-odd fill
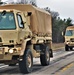
[[[73,25],[72,19],[61,19],[58,12],[50,11],[50,8],[48,7],[44,9],[52,15],[52,41],[54,43],[64,42],[64,36],[62,36],[62,32],[65,34],[66,28]]]

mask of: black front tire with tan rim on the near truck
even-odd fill
[[[19,61],[19,69],[21,73],[27,74],[32,72],[33,56],[30,49],[26,49],[23,60]]]

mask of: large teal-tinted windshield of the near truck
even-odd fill
[[[12,12],[6,12],[6,14],[2,15],[2,12],[0,12],[0,30],[10,30],[15,28],[14,14]]]

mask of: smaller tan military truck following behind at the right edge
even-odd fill
[[[65,32],[65,50],[74,49],[74,26],[69,26],[66,28]]]

